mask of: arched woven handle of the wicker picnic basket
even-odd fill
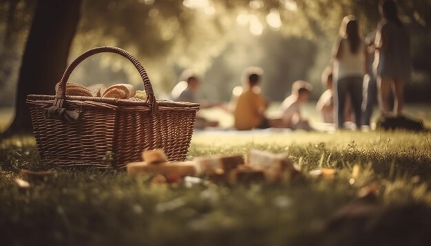
[[[151,113],[157,114],[158,103],[156,101],[156,97],[154,96],[153,87],[151,86],[151,82],[149,81],[147,71],[145,71],[143,65],[140,64],[138,59],[136,59],[129,52],[126,52],[124,49],[120,49],[118,47],[111,47],[111,46],[103,46],[103,47],[96,47],[93,49],[89,49],[83,54],[81,54],[80,56],[76,57],[72,61],[72,63],[70,63],[70,65],[67,66],[59,82],[59,87],[55,93],[54,106],[57,108],[63,108],[63,102],[66,96],[66,83],[67,83],[67,80],[69,80],[70,74],[72,74],[72,71],[76,68],[76,66],[78,66],[79,63],[81,63],[86,58],[93,56],[94,54],[103,53],[103,52],[119,54],[129,59],[133,63],[136,69],[138,69],[140,77],[143,79],[145,93],[147,93],[146,102],[149,104],[149,107],[151,107]]]

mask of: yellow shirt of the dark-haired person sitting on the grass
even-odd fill
[[[264,120],[262,112],[266,102],[259,87],[253,87],[241,93],[236,102],[233,116],[235,128],[238,130],[251,130],[262,124]]]

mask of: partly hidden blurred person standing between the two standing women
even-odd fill
[[[362,125],[370,126],[370,120],[374,105],[377,103],[377,80],[372,69],[375,56],[375,42],[376,32],[370,32],[365,38],[367,45],[366,53],[366,74],[364,75],[364,84],[362,91]]]

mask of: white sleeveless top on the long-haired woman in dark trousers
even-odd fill
[[[364,43],[359,43],[358,51],[353,54],[350,51],[350,44],[346,38],[342,38],[341,57],[335,59],[334,62],[334,76],[337,80],[341,78],[348,78],[353,76],[364,76],[365,73],[365,54]]]

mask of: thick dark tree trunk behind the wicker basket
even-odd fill
[[[19,72],[15,117],[6,131],[31,133],[28,94],[54,93],[67,65],[70,45],[80,17],[81,0],[39,0]]]

